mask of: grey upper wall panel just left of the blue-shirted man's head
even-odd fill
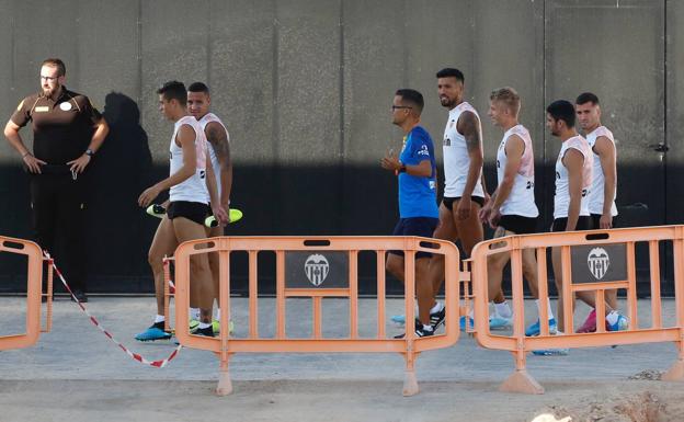
[[[388,148],[401,148],[390,107],[407,83],[403,2],[344,2],[342,13],[345,162],[378,166]]]

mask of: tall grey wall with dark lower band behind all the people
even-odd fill
[[[682,24],[684,4],[674,0],[0,0],[0,116],[37,90],[41,60],[58,56],[68,87],[112,123],[93,162],[96,290],[151,287],[146,250],[156,221],[135,199],[168,172],[172,127],[155,89],[169,79],[206,81],[228,125],[232,201],[246,213],[233,233],[389,232],[396,181],[377,163],[401,140],[390,124],[392,94],[423,92],[423,122],[438,150],[446,110],[434,73],[446,66],[465,72],[468,101],[482,116],[490,189],[502,134],[486,115],[489,92],[521,92],[540,226],[550,224],[559,150],[544,107],[582,91],[598,94],[620,142],[624,221],[681,223],[683,189],[673,181],[684,159]],[[31,140],[31,130],[23,135]],[[653,151],[659,142],[670,152]],[[30,237],[19,162],[0,142],[0,193],[9,199],[0,232]],[[13,280],[4,267],[0,277]]]

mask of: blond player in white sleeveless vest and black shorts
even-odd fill
[[[520,95],[513,88],[492,91],[489,117],[494,126],[504,130],[497,152],[497,178],[499,184],[491,201],[480,210],[480,219],[495,229],[494,238],[536,232],[539,210],[534,195],[534,153],[529,132],[518,123]],[[489,318],[490,329],[512,324],[512,311],[505,300],[498,299],[503,269],[511,259],[509,252],[491,255],[487,261],[489,297],[494,301],[494,312]],[[523,251],[523,276],[529,290],[538,299],[537,260],[535,251]],[[537,301],[538,305],[538,301]],[[555,324],[548,301],[549,323]],[[537,333],[539,324],[536,324]]]

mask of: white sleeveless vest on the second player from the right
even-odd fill
[[[582,136],[573,136],[562,142],[558,160],[556,160],[556,192],[554,193],[554,219],[568,217],[570,206],[570,185],[568,169],[562,163],[568,149],[577,149],[584,157],[582,166],[582,201],[580,202],[580,215],[589,216],[589,193],[592,182],[592,168],[594,155],[586,139]]]

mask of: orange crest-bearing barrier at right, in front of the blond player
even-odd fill
[[[660,296],[660,254],[663,242],[672,241],[674,258],[674,286],[676,320],[672,327],[663,327]],[[487,349],[506,350],[515,356],[515,373],[501,386],[503,391],[543,394],[544,388],[526,372],[525,355],[529,351],[544,349],[571,349],[674,342],[679,357],[668,373],[665,380],[684,379],[684,226],[641,227],[613,230],[554,232],[528,236],[511,236],[478,243],[472,250],[472,287],[475,296],[475,331],[480,345]],[[648,246],[651,284],[651,322],[640,328],[637,312],[636,244]],[[539,301],[548,300],[547,249],[561,249],[563,297],[570,298],[575,292],[595,292],[595,333],[567,332],[549,335],[548,315],[540,306],[540,335],[525,337],[525,313],[523,297],[522,251],[536,250],[539,280]],[[492,335],[489,330],[489,297],[487,259],[490,255],[510,252],[513,287],[513,334]],[[611,260],[615,262],[611,270]],[[623,263],[624,265],[622,265]],[[588,270],[591,274],[584,274]],[[607,271],[613,271],[612,280]],[[573,274],[574,272],[574,274]],[[592,278],[593,277],[593,278]],[[605,280],[604,280],[605,278]],[[605,318],[605,290],[622,288],[627,290],[626,331],[606,332],[601,323]],[[563,301],[566,330],[574,327],[572,300]],[[535,315],[536,317],[536,315]],[[529,322],[529,321],[528,321]]]

